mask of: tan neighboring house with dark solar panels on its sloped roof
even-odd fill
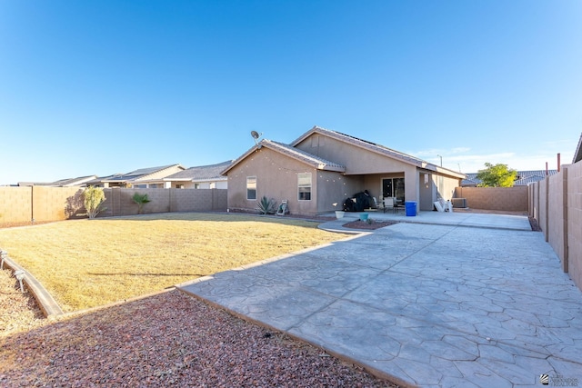
[[[164,188],[166,176],[184,170],[185,168],[180,164],[140,168],[127,174],[113,174],[97,178],[87,184],[98,187]]]

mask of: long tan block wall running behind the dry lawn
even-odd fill
[[[135,193],[151,200],[144,214],[166,212],[226,212],[226,189],[106,188],[106,210],[98,216],[137,214]],[[0,187],[0,224],[33,224],[85,218],[79,187]]]

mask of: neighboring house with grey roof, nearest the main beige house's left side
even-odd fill
[[[220,173],[232,163],[233,161],[229,160],[219,164],[190,167],[179,173],[166,176],[164,182],[166,183],[166,188],[226,189],[228,178]]]

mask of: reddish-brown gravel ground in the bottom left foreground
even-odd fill
[[[177,290],[48,321],[0,273],[2,387],[396,386]]]

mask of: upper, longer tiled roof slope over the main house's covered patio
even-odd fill
[[[384,156],[390,157],[392,159],[400,160],[407,164],[414,164],[416,167],[424,168],[426,170],[431,170],[439,173],[444,173],[448,175],[453,175],[457,178],[465,178],[465,174],[458,173],[457,171],[449,170],[445,167],[437,166],[436,164],[430,164],[422,159],[417,158],[416,156],[412,156],[410,154],[404,154],[399,151],[393,150],[392,148],[388,148],[381,144],[376,144],[372,142],[368,142],[367,140],[357,138],[355,136],[349,134],[342,134],[340,132],[332,131],[330,129],[322,128],[320,126],[314,126],[311,130],[307,131],[305,134],[302,134],[299,138],[297,138],[293,143],[292,146],[296,146],[297,144],[303,142],[307,137],[311,134],[324,134],[326,136],[335,138],[336,140],[356,145],[357,147],[366,149],[367,151],[374,152],[376,154],[382,154]]]

